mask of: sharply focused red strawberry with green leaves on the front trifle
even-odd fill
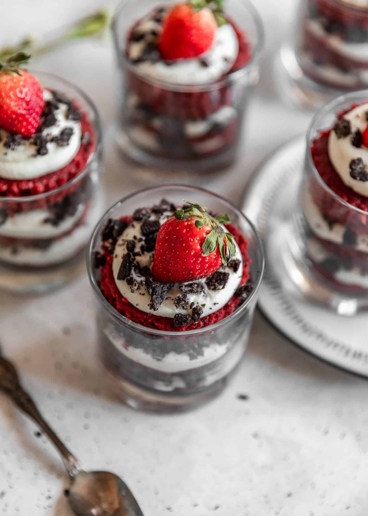
[[[228,215],[211,217],[207,208],[189,201],[166,220],[157,235],[152,274],[160,283],[206,278],[235,254],[233,236],[221,224]]]

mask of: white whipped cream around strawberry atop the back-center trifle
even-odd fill
[[[152,79],[172,84],[206,84],[220,79],[235,63],[239,52],[239,41],[232,25],[218,27],[211,48],[198,57],[175,61],[150,60],[145,58],[147,44],[157,44],[162,31],[162,21],[155,21],[156,11],[149,13],[135,27],[134,38],[128,45],[128,57],[136,62],[137,68]]]

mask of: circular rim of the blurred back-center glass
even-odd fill
[[[162,89],[178,92],[191,92],[193,88],[195,88],[196,91],[207,91],[212,88],[221,88],[223,86],[227,86],[229,82],[236,82],[236,80],[243,77],[248,72],[248,69],[251,69],[254,63],[256,63],[260,58],[264,46],[264,29],[261,16],[257,9],[254,7],[254,5],[251,2],[249,2],[249,0],[238,0],[238,2],[242,3],[248,9],[249,15],[254,21],[257,34],[256,43],[252,46],[252,56],[250,57],[249,61],[245,63],[245,65],[239,68],[239,70],[228,73],[227,75],[220,77],[217,80],[205,84],[176,84],[170,83],[165,80],[150,78],[147,74],[139,72],[139,70],[137,70],[137,67],[135,67],[126,58],[125,53],[120,51],[118,18],[122,14],[124,9],[129,6],[129,4],[135,2],[139,2],[139,0],[122,0],[118,7],[116,7],[115,14],[112,20],[113,43],[119,65],[127,67],[131,72],[135,73],[141,80],[143,80],[147,84],[156,85]]]

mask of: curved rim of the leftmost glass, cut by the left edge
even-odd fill
[[[89,97],[89,95],[87,95],[87,93],[85,93],[82,89],[80,89],[79,86],[76,86],[75,84],[71,83],[69,80],[63,79],[62,77],[59,77],[58,75],[56,75],[54,73],[38,72],[34,69],[30,69],[30,71],[31,71],[32,75],[35,75],[36,77],[40,77],[41,82],[42,82],[42,77],[59,80],[65,86],[73,88],[76,91],[76,93],[78,95],[80,95],[83,98],[83,100],[85,100],[87,102],[87,104],[91,108],[91,110],[93,112],[93,116],[94,116],[93,125],[94,125],[94,130],[96,133],[96,147],[93,151],[92,156],[90,156],[85,168],[83,168],[83,170],[78,175],[76,175],[75,178],[73,178],[71,181],[68,181],[64,185],[58,186],[57,188],[54,188],[53,190],[49,190],[47,192],[42,192],[42,193],[36,193],[35,195],[18,196],[18,197],[2,197],[2,196],[0,196],[1,203],[13,203],[13,202],[26,203],[26,202],[32,202],[32,201],[39,201],[40,199],[45,199],[49,196],[55,195],[56,193],[62,192],[63,190],[70,188],[74,184],[78,183],[78,181],[83,179],[85,177],[85,175],[87,175],[90,168],[97,162],[99,155],[101,154],[101,151],[102,151],[101,117],[99,116],[98,110],[97,110],[95,104],[93,103],[92,99]],[[49,172],[49,173],[53,173],[53,172]],[[44,174],[44,175],[47,175],[47,174]]]

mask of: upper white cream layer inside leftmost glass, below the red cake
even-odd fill
[[[53,224],[52,213],[47,209],[34,209],[8,217],[0,225],[0,236],[10,238],[55,238],[70,231],[85,211],[86,205],[80,203],[73,216],[65,217],[60,223]]]

